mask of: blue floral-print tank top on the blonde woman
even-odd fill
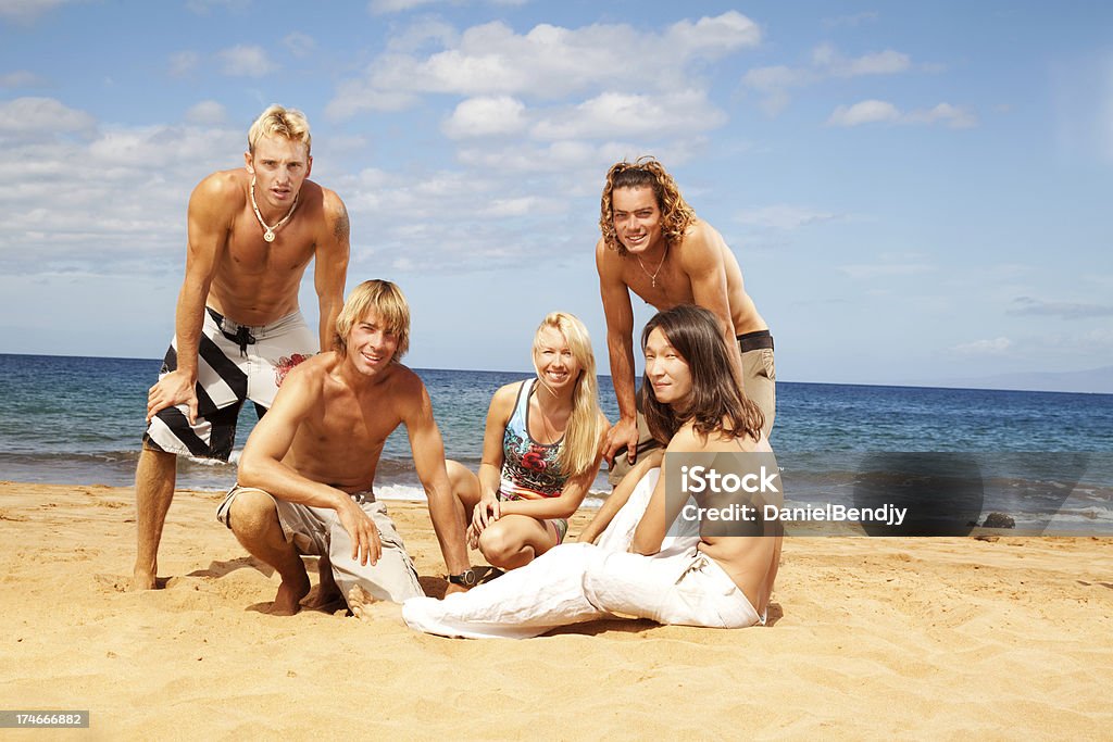
[[[514,413],[502,437],[502,499],[538,499],[556,497],[564,491],[568,477],[561,474],[560,452],[564,437],[544,445],[530,437],[530,395],[536,379],[522,382],[518,389]]]

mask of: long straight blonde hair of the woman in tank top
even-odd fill
[[[564,476],[575,476],[587,472],[595,463],[599,441],[603,435],[602,413],[599,409],[599,386],[595,382],[595,354],[591,349],[588,328],[574,315],[552,311],[541,320],[533,336],[534,354],[539,349],[541,332],[552,327],[559,332],[580,365],[580,376],[572,390],[572,415],[564,432],[564,445],[560,451],[560,468]],[[533,362],[538,370],[536,358]],[[540,372],[538,377],[541,377]]]

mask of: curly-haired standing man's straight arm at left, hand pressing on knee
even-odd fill
[[[621,258],[603,240],[595,245],[599,294],[607,317],[607,352],[611,360],[611,383],[619,403],[619,419],[603,442],[603,458],[610,463],[622,446],[631,464],[638,455],[638,406],[633,380],[633,307],[630,290],[622,281]]]

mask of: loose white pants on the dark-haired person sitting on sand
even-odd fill
[[[526,639],[617,613],[660,623],[742,627],[761,622],[733,581],[696,546],[695,523],[667,536],[653,556],[626,552],[660,469],[649,472],[599,545],[561,544],[524,567],[443,601],[402,605],[411,629],[467,639]]]

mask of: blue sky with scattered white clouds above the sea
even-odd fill
[[[161,357],[189,192],[273,102],[414,367],[528,369],[562,309],[605,374],[599,197],[642,155],[780,380],[1113,364],[1113,9],[993,1],[0,0],[0,353]]]

